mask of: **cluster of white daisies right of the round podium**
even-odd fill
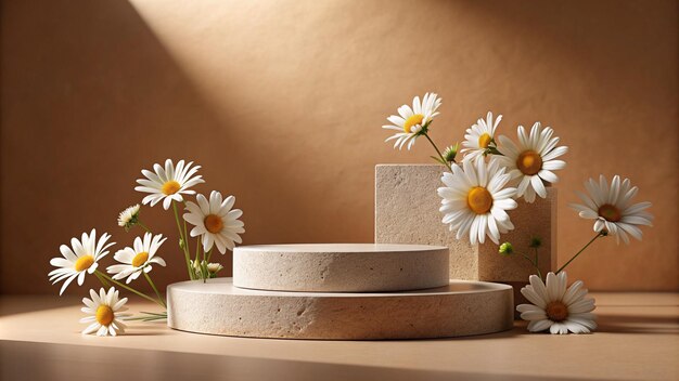
[[[445,186],[438,188],[443,223],[456,232],[457,239],[469,237],[472,244],[484,244],[488,237],[500,245],[500,235],[514,228],[508,211],[517,208],[517,199],[531,203],[536,197],[547,197],[547,187],[559,181],[555,171],[566,167],[560,157],[568,152],[568,147],[560,146],[554,130],[542,128],[540,122],[534,123],[530,131],[518,126],[517,142],[498,135],[502,116],[494,118],[492,113],[488,113],[485,119],[479,118],[466,129],[460,150],[463,157],[458,163],[458,144],[441,154],[428,136],[430,126],[439,114],[440,104],[441,100],[436,94],[427,93],[422,102],[415,96],[412,107],[399,107],[399,115],[387,118],[392,124],[383,126],[384,129],[398,131],[386,141],[396,140],[395,148],[400,149],[407,144],[410,149],[419,136],[425,136],[437,153],[437,157],[433,158],[449,169],[441,176]],[[594,239],[612,235],[618,242],[622,239],[628,244],[628,236],[641,240],[639,225],[652,225],[653,215],[646,211],[651,202],[632,203],[638,188],[631,186],[628,179],[620,180],[616,175],[608,183],[601,175],[598,182],[593,179],[585,182],[585,188],[588,194],[577,194],[584,205],[571,207],[581,218],[594,220]],[[508,248],[511,245],[503,244],[500,252],[511,253]],[[530,320],[530,331],[549,329],[552,333],[579,333],[597,327],[591,314],[593,300],[584,299],[587,290],[581,288],[581,281],[576,281],[566,290],[563,267],[565,265],[556,273],[548,274],[545,281],[539,276],[533,276],[530,285],[522,289],[522,293],[534,303],[518,306],[522,317]]]

